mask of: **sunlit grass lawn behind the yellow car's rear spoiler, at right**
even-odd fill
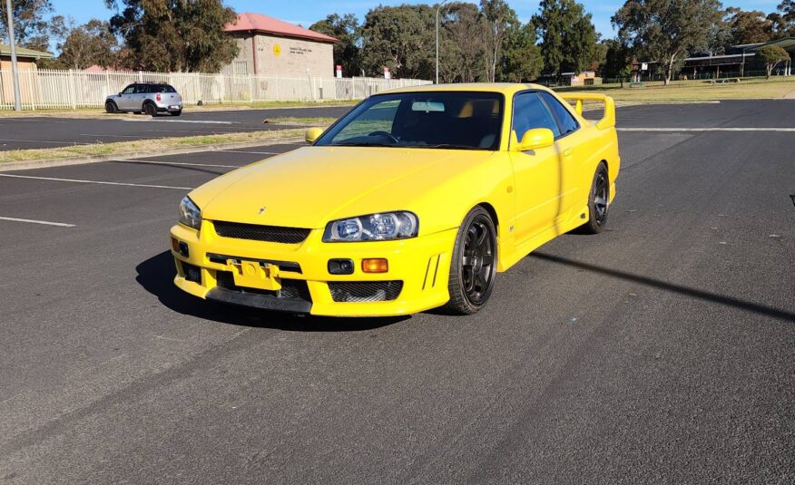
[[[780,99],[788,94],[795,95],[795,76],[783,79],[771,78],[765,81],[760,78],[742,79],[741,82],[712,84],[703,81],[672,82],[664,86],[663,82],[643,82],[642,88],[630,88],[624,83],[608,84],[594,87],[557,88],[558,92],[602,92],[612,96],[616,102],[699,102],[712,100],[737,99]]]

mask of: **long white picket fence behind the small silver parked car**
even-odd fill
[[[121,92],[131,82],[168,82],[186,104],[258,101],[356,100],[392,88],[429,84],[418,79],[368,77],[303,78],[206,73],[87,73],[83,71],[31,70],[19,72],[25,110],[102,107],[105,97]],[[0,110],[14,109],[10,69],[0,70]]]

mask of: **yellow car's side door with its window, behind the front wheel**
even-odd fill
[[[538,92],[519,92],[514,97],[511,143],[522,140],[525,131],[552,130],[560,137],[560,127]],[[561,160],[555,145],[537,150],[511,151],[515,178],[515,238],[521,244],[553,227],[562,211],[560,195]]]

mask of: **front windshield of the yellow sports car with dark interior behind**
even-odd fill
[[[379,94],[315,144],[496,150],[502,119],[503,95],[496,92]]]

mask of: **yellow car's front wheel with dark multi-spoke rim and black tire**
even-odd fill
[[[472,315],[486,306],[496,276],[496,228],[486,209],[469,211],[458,228],[447,289],[450,301],[444,310]]]

